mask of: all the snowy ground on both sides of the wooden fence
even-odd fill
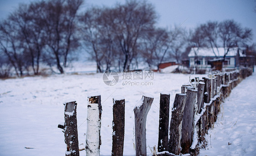
[[[113,96],[125,97],[124,155],[129,156],[135,155],[133,107],[144,93],[154,96],[146,125],[147,151],[150,155],[150,148],[153,150],[153,146],[157,146],[158,142],[160,92],[170,92],[172,105],[175,94],[180,93],[180,87],[189,81],[189,76],[154,73],[153,80],[131,81],[138,82],[138,86],[126,84],[127,80],[122,80],[122,73],[119,73],[119,81],[115,86],[107,86],[102,81],[102,73],[0,80],[0,156],[65,155],[64,134],[61,129],[57,128],[57,125],[64,122],[62,103],[67,99],[77,100],[78,139],[80,149],[85,148],[87,95],[92,92],[99,92],[102,96],[101,155],[106,156],[110,156],[112,150]],[[191,78],[195,76],[203,77],[203,75],[191,75]],[[256,84],[253,82],[255,78],[255,74],[246,78],[226,99],[226,103],[223,104],[224,110],[222,110],[223,118],[218,118],[215,129],[210,131],[209,136],[206,136],[211,137],[209,146],[212,148],[206,151],[201,150],[201,156],[225,156],[224,151],[226,153],[228,151],[240,153],[255,151],[256,96],[254,87]],[[141,86],[144,82],[148,82],[148,86]],[[251,96],[247,97],[245,92]],[[240,94],[246,96],[246,99],[238,96]],[[230,146],[228,142],[231,143]],[[80,156],[86,156],[85,150],[80,151]]]

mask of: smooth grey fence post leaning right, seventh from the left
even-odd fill
[[[194,115],[196,104],[196,90],[187,90],[187,99],[184,107],[184,115],[181,130],[181,153],[189,153],[194,135]]]

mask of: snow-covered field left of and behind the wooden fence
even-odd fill
[[[83,73],[0,80],[0,156],[63,156],[66,151],[64,134],[57,125],[64,122],[62,103],[67,99],[77,100],[78,138],[80,149],[84,148],[87,95],[92,92],[102,95],[101,154],[108,156],[112,150],[112,98],[116,95],[125,97],[124,154],[134,156],[133,108],[144,93],[154,96],[146,125],[150,154],[150,148],[153,150],[158,143],[160,92],[169,91],[173,104],[175,94],[180,93],[182,84],[189,81],[189,75],[154,73],[153,80],[145,80],[145,75],[143,80],[127,80],[119,73],[115,86],[107,86],[102,75]],[[85,151],[80,151],[80,156],[85,155]]]

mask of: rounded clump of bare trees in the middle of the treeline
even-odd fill
[[[130,69],[138,58],[142,37],[152,30],[156,13],[151,4],[126,1],[113,8],[93,7],[80,17],[82,38],[92,58],[97,62],[97,71],[111,66],[121,70]]]

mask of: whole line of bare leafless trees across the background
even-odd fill
[[[183,25],[164,29],[156,26],[159,15],[147,1],[127,0],[82,11],[83,3],[20,4],[0,21],[0,76],[10,75],[10,69],[17,76],[31,71],[38,75],[40,65],[57,67],[62,74],[79,56],[77,51],[87,51],[97,72],[103,72],[133,69],[141,62],[149,68],[170,59],[180,63],[191,47],[225,47],[226,53],[237,46],[256,49],[250,42],[252,30],[234,20],[209,21],[191,30]]]

